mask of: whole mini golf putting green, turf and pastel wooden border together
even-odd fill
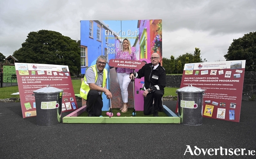
[[[134,123],[134,124],[180,124],[180,117],[163,105],[163,112],[158,112],[159,117],[153,115],[145,116],[142,111],[136,111],[136,116],[132,116],[133,108],[128,108],[126,113],[117,116],[119,109],[112,109],[113,117],[106,115],[107,111],[102,111],[103,117],[87,117],[85,112],[86,106],[82,106],[78,110],[63,117],[63,123]],[[110,110],[109,110],[110,112]]]

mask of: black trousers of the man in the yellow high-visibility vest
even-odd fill
[[[101,116],[103,101],[101,94],[97,90],[90,90],[87,95],[86,106],[88,106],[88,113],[95,116]]]

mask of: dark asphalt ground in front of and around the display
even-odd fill
[[[175,111],[176,101],[163,101],[163,104]],[[199,126],[61,123],[52,127],[38,127],[36,117],[22,118],[20,102],[0,102],[0,158],[256,158],[256,152],[252,151],[256,151],[255,104],[255,101],[242,101],[239,123],[203,118],[203,124]],[[80,108],[82,103],[78,102],[78,106]],[[62,113],[62,117],[69,113]],[[203,149],[200,155],[199,150],[195,151],[195,146]],[[231,155],[231,149],[233,152],[237,149],[236,154],[240,155]],[[246,149],[243,150],[244,155],[241,149]],[[248,155],[248,150],[254,156]],[[206,151],[205,155],[203,151]]]

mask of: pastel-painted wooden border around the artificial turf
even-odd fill
[[[78,110],[70,113],[69,115],[63,117],[63,123],[105,123],[105,124],[117,124],[117,123],[127,123],[127,124],[180,124],[180,117],[172,112],[169,108],[163,105],[163,112],[166,113],[168,117],[79,117],[85,111],[86,106],[82,106]]]

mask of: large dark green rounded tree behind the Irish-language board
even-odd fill
[[[71,75],[79,72],[79,43],[59,32],[39,30],[30,32],[13,56],[21,63],[67,65]]]

